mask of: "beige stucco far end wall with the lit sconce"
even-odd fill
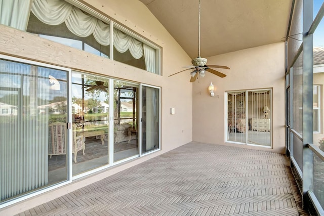
[[[207,72],[193,84],[193,141],[285,152],[285,44],[284,42],[208,58],[207,64],[226,65],[220,78]],[[213,82],[215,96],[208,86]],[[225,91],[272,88],[273,149],[225,143]]]

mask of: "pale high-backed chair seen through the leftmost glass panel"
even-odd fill
[[[55,122],[49,124],[49,155],[66,154],[66,124]]]

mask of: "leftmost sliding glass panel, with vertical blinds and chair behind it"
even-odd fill
[[[0,202],[67,180],[64,68],[1,59]]]

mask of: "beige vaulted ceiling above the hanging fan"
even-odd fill
[[[199,0],[140,0],[191,58],[198,56]],[[292,0],[200,0],[200,56],[282,41]]]

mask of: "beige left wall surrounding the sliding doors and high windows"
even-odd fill
[[[66,186],[2,208],[0,209],[2,215],[29,209],[192,141],[192,84],[188,81],[187,73],[168,77],[182,70],[183,65],[191,63],[188,55],[142,3],[100,0],[85,2],[161,47],[162,76],[65,47],[4,25],[0,25],[0,54],[161,87],[161,151],[102,170],[90,177],[78,179]],[[170,114],[171,107],[175,108],[174,115]]]

